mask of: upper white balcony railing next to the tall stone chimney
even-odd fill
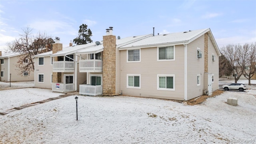
[[[79,72],[102,72],[102,60],[80,60]]]

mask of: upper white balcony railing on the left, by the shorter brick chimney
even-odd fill
[[[69,61],[52,62],[52,72],[74,72],[74,62],[69,62]]]

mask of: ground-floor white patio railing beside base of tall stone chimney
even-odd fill
[[[89,84],[79,85],[79,94],[86,96],[100,96],[102,95],[102,86],[91,86]]]

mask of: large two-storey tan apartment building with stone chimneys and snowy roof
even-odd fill
[[[34,56],[35,63],[39,58],[49,59],[42,68],[35,64],[35,87],[173,100],[190,100],[218,90],[221,54],[210,28],[116,39],[110,27],[102,42],[63,49],[56,42],[52,53]]]

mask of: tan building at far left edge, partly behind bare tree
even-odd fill
[[[19,60],[19,53],[6,53],[2,54],[0,51],[0,81],[33,81],[34,72],[28,74],[27,71],[22,72],[20,75],[20,69],[18,68],[17,63]],[[24,60],[24,64],[28,63],[28,59]]]

